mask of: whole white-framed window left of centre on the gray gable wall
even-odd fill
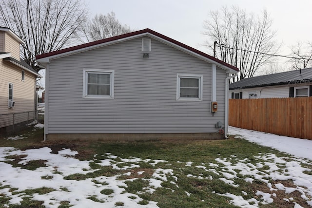
[[[114,98],[114,71],[84,69],[83,97]]]

